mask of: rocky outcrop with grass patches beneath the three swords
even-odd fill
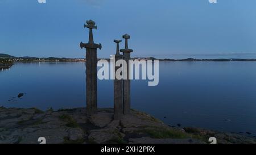
[[[172,128],[143,112],[131,110],[113,120],[113,109],[100,109],[86,118],[86,108],[40,111],[0,107],[0,144],[46,143],[256,143],[254,137],[198,128]]]

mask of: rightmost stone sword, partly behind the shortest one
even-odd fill
[[[128,48],[128,39],[130,39],[130,36],[125,34],[123,35],[123,39],[125,39],[125,49],[121,49],[120,52],[123,52],[123,59],[126,61],[127,64],[127,70],[125,70],[127,78],[123,80],[123,114],[127,115],[130,114],[131,108],[131,81],[129,78],[129,59],[131,58],[131,52],[133,52],[133,49]]]

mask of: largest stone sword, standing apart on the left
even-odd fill
[[[97,48],[101,44],[94,44],[92,30],[97,26],[93,20],[87,20],[84,27],[89,28],[89,42],[80,43],[81,48],[86,48],[86,115],[91,116],[97,112]]]

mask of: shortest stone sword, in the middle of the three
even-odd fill
[[[122,59],[123,56],[119,53],[119,43],[122,40],[114,40],[115,43],[117,43],[117,52],[114,55],[115,58],[115,64],[118,60]],[[114,67],[115,73],[118,70],[118,66]],[[114,78],[114,120],[121,119],[123,115],[123,80]]]

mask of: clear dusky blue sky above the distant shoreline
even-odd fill
[[[84,57],[85,20],[98,29],[98,57],[129,33],[132,56],[256,57],[255,0],[0,0],[0,53]],[[124,47],[124,41],[121,48]]]

